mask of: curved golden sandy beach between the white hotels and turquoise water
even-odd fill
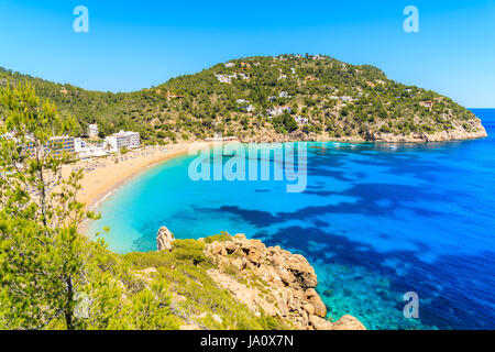
[[[202,146],[208,144],[205,143]],[[125,155],[79,161],[76,164],[65,166],[63,176],[67,177],[73,170],[85,170],[85,176],[80,183],[82,188],[79,190],[77,198],[86,205],[87,209],[91,209],[129,178],[155,164],[186,154],[189,147],[195,146],[191,146],[191,143],[144,146]],[[201,146],[196,148],[199,147]]]

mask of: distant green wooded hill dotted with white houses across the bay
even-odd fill
[[[0,85],[31,81],[84,134],[141,132],[146,143],[350,140],[427,142],[486,136],[481,121],[450,98],[387,79],[369,65],[328,56],[248,57],[130,94],[88,91],[0,69]]]

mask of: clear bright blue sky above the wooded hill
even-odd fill
[[[89,31],[75,32],[77,6]],[[406,32],[404,9],[418,9]],[[0,67],[132,91],[232,58],[324,54],[495,108],[494,0],[0,0]]]

